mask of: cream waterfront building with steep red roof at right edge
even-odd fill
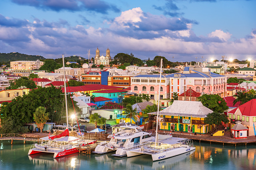
[[[254,123],[256,122],[256,99],[252,99],[237,108],[228,112],[230,120],[230,129],[235,125],[236,121],[248,128],[247,136],[254,136]]]

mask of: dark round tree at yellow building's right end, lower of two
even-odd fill
[[[224,113],[213,112],[209,113],[204,120],[205,124],[219,126],[224,123],[228,123],[228,116]]]

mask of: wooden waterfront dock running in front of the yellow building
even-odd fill
[[[182,137],[182,138],[188,138],[197,140],[199,142],[205,141],[205,142],[214,142],[214,143],[222,143],[224,144],[234,144],[235,146],[237,144],[256,144],[256,137],[255,136],[248,136],[245,139],[235,139],[227,136],[210,136],[210,135],[190,135],[190,134],[181,134],[181,133],[172,133],[173,137]]]

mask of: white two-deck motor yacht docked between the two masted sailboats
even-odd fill
[[[123,125],[120,131],[108,135],[109,142],[103,141],[97,145],[94,153],[103,154],[115,151],[114,156],[125,156],[126,150],[154,139],[152,134],[139,130],[140,126]]]

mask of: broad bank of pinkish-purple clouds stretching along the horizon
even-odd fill
[[[149,54],[175,54],[180,59],[188,55],[256,54],[256,30],[232,41],[232,35],[222,30],[197,36],[192,30],[195,24],[198,23],[185,18],[144,13],[140,8],[122,12],[108,21],[108,28],[72,27],[65,20],[27,21],[0,15],[0,50],[46,58],[58,58],[62,53],[85,56],[87,49],[97,46],[109,47],[112,56],[120,52],[145,53],[143,58]]]

